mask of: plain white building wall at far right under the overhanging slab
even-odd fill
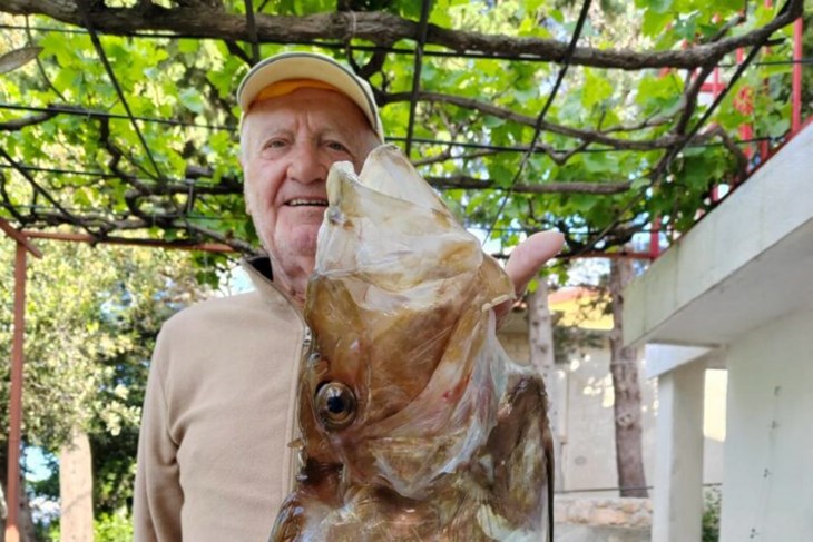
[[[813,309],[734,341],[721,541],[813,533]]]

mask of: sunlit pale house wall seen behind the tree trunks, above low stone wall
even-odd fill
[[[574,348],[567,363],[558,364],[558,381],[551,396],[558,398],[561,426],[557,443],[561,450],[557,472],[564,494],[576,496],[618,496],[616,469],[614,393],[609,371],[608,332],[611,315],[590,309],[597,294],[586,288],[562,288],[549,296],[551,313],[558,314],[559,326],[578,327],[590,333],[587,345]],[[517,312],[499,333],[502,345],[513,359],[529,358],[528,325],[525,312]],[[644,465],[652,485],[655,467],[656,417],[658,412],[657,380],[646,377],[647,361],[640,353],[640,391]],[[723,441],[725,440],[725,371],[713,371],[704,390],[704,476],[707,485],[723,482]]]

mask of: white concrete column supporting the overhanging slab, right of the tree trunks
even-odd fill
[[[701,540],[705,364],[658,376],[653,542]]]

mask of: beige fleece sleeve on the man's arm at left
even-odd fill
[[[138,437],[134,496],[136,542],[180,541],[180,487],[177,443],[169,435],[166,369],[170,362],[164,333],[158,336],[147,380]]]

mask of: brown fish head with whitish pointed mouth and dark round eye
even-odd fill
[[[304,311],[303,436],[311,457],[393,477],[427,442],[443,446],[469,351],[513,288],[394,146],[374,149],[360,176],[335,164],[327,196]]]

